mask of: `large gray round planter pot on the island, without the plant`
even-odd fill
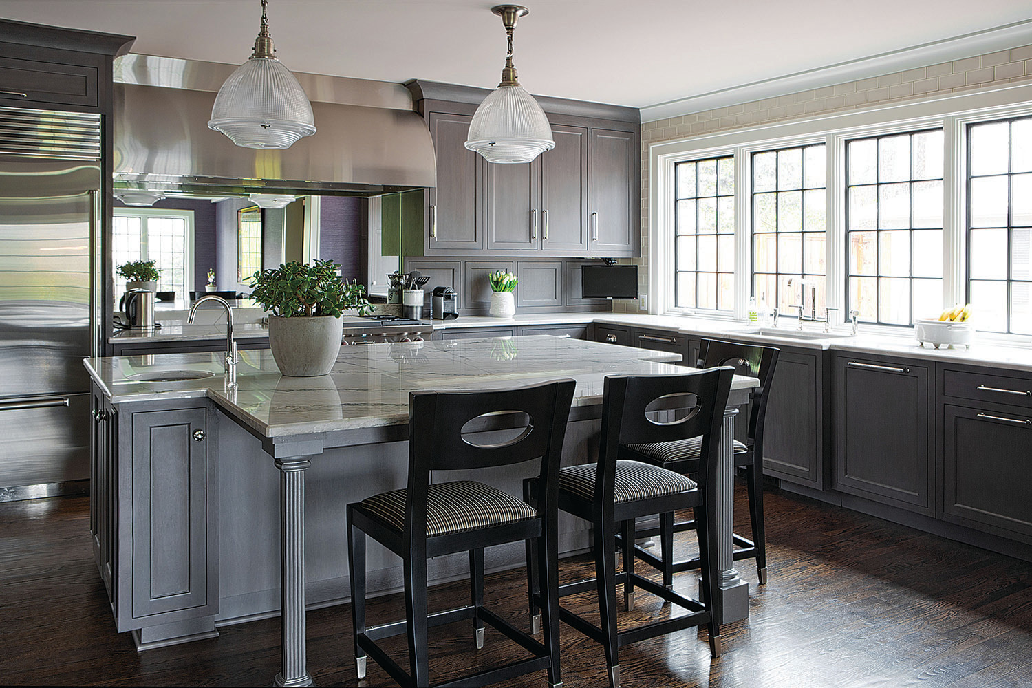
[[[325,375],[341,353],[344,321],[332,316],[268,319],[268,346],[280,372],[293,378]]]

